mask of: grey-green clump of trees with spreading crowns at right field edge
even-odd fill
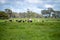
[[[47,10],[41,10],[42,15],[45,18],[60,18],[60,11],[48,8]]]

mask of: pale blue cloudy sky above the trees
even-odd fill
[[[60,0],[0,0],[0,10],[9,8],[14,12],[26,12],[29,9],[41,13],[41,10],[49,7],[60,10]]]

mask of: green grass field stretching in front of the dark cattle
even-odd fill
[[[33,19],[32,23],[13,20],[0,20],[0,40],[60,40],[60,19]]]

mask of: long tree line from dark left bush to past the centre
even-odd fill
[[[41,18],[42,15],[36,12],[27,10],[27,12],[13,12],[11,9],[5,9],[5,11],[0,11],[0,19],[8,18]]]

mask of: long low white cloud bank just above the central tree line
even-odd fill
[[[10,7],[10,9],[14,12],[26,12],[27,9],[29,9],[30,11],[33,11],[33,12],[36,12],[36,13],[41,13],[41,10],[43,9],[39,9],[37,7],[32,7],[32,6],[28,6],[28,7],[23,7],[22,9],[19,9],[19,8],[13,8],[13,7]]]

